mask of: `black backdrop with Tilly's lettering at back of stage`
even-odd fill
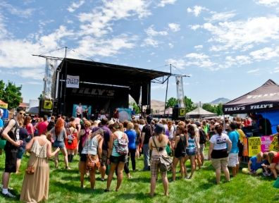
[[[106,79],[106,78],[105,78]],[[113,110],[118,107],[128,108],[129,88],[112,87],[107,85],[90,85],[80,83],[80,88],[66,88],[66,114],[72,116],[73,105],[82,104],[83,106],[92,106],[91,113],[100,112],[101,109],[109,111],[110,117],[113,116]]]

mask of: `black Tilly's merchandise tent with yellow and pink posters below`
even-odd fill
[[[261,87],[244,94],[242,97],[233,99],[223,104],[223,113],[237,114],[247,113],[253,119],[254,125],[242,128],[247,135],[244,138],[243,161],[248,162],[249,157],[259,152],[279,152],[278,137],[271,137],[265,132],[259,132],[256,123],[256,115],[261,114],[271,121],[272,133],[277,133],[276,126],[279,125],[279,85],[273,80],[268,80]],[[264,120],[266,122],[266,119]]]

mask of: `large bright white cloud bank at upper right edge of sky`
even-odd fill
[[[212,37],[209,42],[218,43],[209,50],[221,51],[229,48],[245,49],[244,46],[249,44],[279,39],[279,26],[275,26],[278,24],[278,17],[257,17],[218,23],[218,25],[205,23],[203,28],[211,32]]]

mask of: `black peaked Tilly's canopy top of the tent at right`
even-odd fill
[[[223,104],[224,114],[279,110],[279,85],[268,80],[261,87]]]

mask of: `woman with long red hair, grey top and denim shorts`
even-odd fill
[[[52,128],[50,132],[53,133],[54,135],[54,145],[53,145],[54,151],[56,151],[56,149],[59,148],[59,150],[62,152],[64,156],[66,169],[71,170],[71,168],[68,166],[68,156],[67,156],[68,154],[64,144],[64,140],[66,140],[67,136],[66,136],[66,129],[64,128],[64,121],[62,118],[58,118],[54,128]],[[55,154],[54,164],[55,164],[55,168],[58,168],[58,153]]]

